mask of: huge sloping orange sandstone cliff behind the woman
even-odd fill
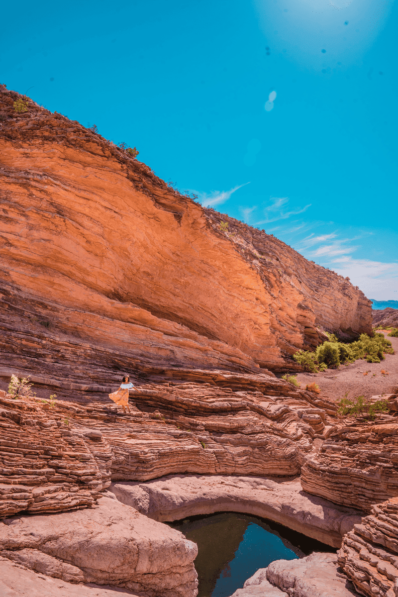
[[[17,364],[82,387],[128,370],[284,371],[322,330],[371,332],[346,279],[78,122],[32,100],[17,113],[18,97],[0,86],[3,375]]]

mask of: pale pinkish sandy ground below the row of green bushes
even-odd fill
[[[398,388],[398,338],[388,338],[387,333],[384,336],[391,341],[395,354],[384,355],[385,361],[367,363],[364,359],[359,359],[350,365],[340,365],[338,369],[328,369],[323,373],[298,373],[297,381],[303,389],[307,383],[315,381],[320,387],[320,394],[335,401],[344,398],[346,392],[348,398],[370,398],[394,393]],[[381,371],[385,371],[385,374]]]

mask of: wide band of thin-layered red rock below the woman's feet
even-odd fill
[[[0,517],[90,506],[111,479],[297,475],[334,404],[275,377],[219,375],[237,391],[147,384],[126,416],[110,401],[0,398]],[[239,391],[244,381],[251,391]]]

